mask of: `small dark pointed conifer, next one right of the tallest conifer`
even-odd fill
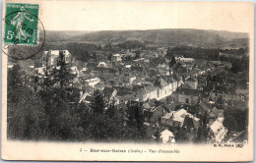
[[[105,103],[106,102],[104,100],[103,94],[100,93],[98,89],[96,89],[93,94],[93,101],[90,104],[90,108],[92,109],[93,113],[103,113]]]

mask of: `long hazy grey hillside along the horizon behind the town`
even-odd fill
[[[96,44],[139,40],[156,46],[198,46],[239,48],[248,46],[248,34],[203,29],[149,29],[103,31],[46,31],[46,42],[76,41]]]

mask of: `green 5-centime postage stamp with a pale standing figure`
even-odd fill
[[[4,42],[37,45],[38,4],[7,3]]]

